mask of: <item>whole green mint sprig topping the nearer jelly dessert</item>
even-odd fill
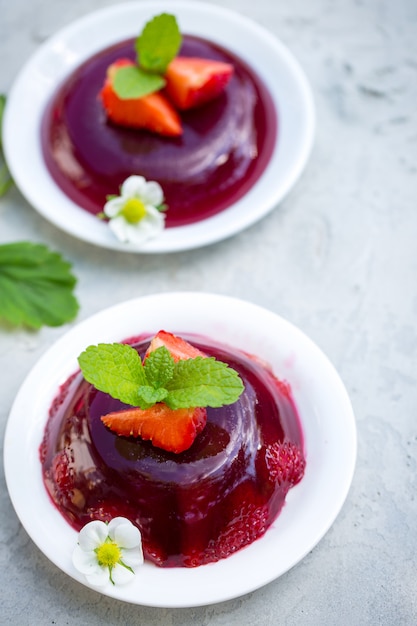
[[[98,344],[78,357],[84,378],[113,398],[147,409],[164,402],[171,409],[233,404],[243,391],[235,370],[214,357],[175,362],[165,346],[144,363],[132,346]]]

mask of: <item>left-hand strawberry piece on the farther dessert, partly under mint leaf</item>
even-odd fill
[[[107,117],[118,126],[146,129],[159,135],[178,137],[182,134],[181,120],[169,100],[160,92],[143,98],[122,100],[113,89],[113,77],[117,69],[134,65],[129,59],[119,59],[107,71],[100,91]]]

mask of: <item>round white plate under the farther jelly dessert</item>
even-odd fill
[[[41,151],[40,123],[57,85],[84,60],[109,45],[137,36],[151,17],[167,10],[182,32],[221,44],[263,78],[278,112],[278,141],[261,178],[225,211],[187,226],[166,229],[135,248],[119,242],[105,222],[74,204],[51,178]],[[64,28],[43,44],[20,72],[8,96],[4,151],[26,199],[64,231],[105,248],[162,253],[204,246],[254,223],[287,194],[300,176],[314,135],[313,99],[306,78],[287,48],[267,30],[219,6],[201,2],[145,1],[111,6]]]

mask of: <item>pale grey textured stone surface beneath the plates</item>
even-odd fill
[[[0,0],[0,91],[47,37],[110,4]],[[110,263],[108,251],[58,231],[14,189],[0,199],[0,242],[44,242],[73,262],[78,321],[134,296],[185,289],[245,298],[298,325],[328,354],[352,399],[359,450],[351,491],[324,539],[285,576],[233,601],[163,610],[103,597],[52,565],[19,524],[2,472],[1,624],[417,623],[417,4],[218,4],[279,37],[311,82],[316,142],[285,201],[211,247],[112,253]],[[66,330],[0,326],[1,440],[25,375]]]

